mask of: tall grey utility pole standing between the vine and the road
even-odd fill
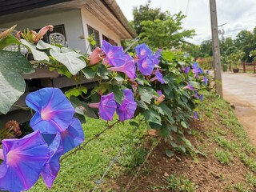
[[[211,35],[213,44],[213,55],[214,55],[214,78],[217,94],[223,98],[222,93],[222,67],[219,50],[218,40],[218,22],[217,22],[217,9],[215,0],[210,1],[210,21],[211,21]]]

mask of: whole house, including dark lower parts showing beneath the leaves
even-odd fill
[[[120,46],[122,39],[136,36],[115,0],[2,0],[0,30],[16,24],[16,30],[39,30],[53,25],[51,33],[62,34],[67,46],[88,54],[94,50],[86,41],[90,34],[94,34],[96,46],[101,46],[103,39]],[[44,36],[44,41],[50,42],[49,35],[50,32]],[[26,93],[16,102],[18,106],[26,106],[24,100],[30,91],[45,86],[65,89],[76,83],[46,68],[37,68],[34,74],[23,75],[23,78],[26,79]],[[84,83],[91,81],[84,79]],[[30,111],[21,112],[13,106],[10,113],[0,115],[0,127],[1,122],[15,119],[22,123],[30,117]]]

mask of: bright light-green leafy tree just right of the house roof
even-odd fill
[[[194,36],[194,30],[182,30],[182,20],[186,18],[181,12],[170,15],[159,8],[150,8],[150,1],[145,6],[135,7],[133,10],[134,29],[139,42],[145,42],[152,48],[171,48],[180,46],[184,38]]]

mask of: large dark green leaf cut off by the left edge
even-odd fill
[[[21,74],[34,72],[30,62],[19,52],[0,50],[0,113],[6,114],[24,93]]]

